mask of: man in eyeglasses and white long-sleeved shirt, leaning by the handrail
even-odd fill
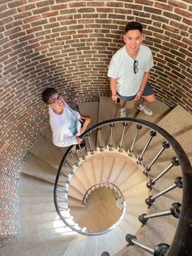
[[[80,144],[85,147],[83,139],[78,136],[86,131],[90,123],[90,116],[81,116],[71,109],[63,100],[61,93],[54,88],[47,88],[42,92],[42,100],[49,107],[49,122],[52,130],[52,142],[58,147],[68,147]],[[72,148],[79,150],[79,145]]]

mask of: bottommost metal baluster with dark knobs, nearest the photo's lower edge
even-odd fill
[[[148,244],[141,243],[137,240],[136,236],[133,236],[131,234],[127,234],[125,237],[126,241],[129,243],[129,245],[137,245],[141,249],[145,250],[146,252],[154,255],[154,256],[165,256],[168,252],[168,249],[170,246],[168,244],[157,244],[155,248],[152,248]]]

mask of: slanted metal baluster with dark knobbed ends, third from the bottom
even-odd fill
[[[164,195],[165,193],[168,193],[169,191],[173,190],[174,188],[182,188],[182,177],[177,177],[175,179],[175,183],[170,185],[168,188],[163,189],[162,191],[160,191],[156,195],[148,196],[148,198],[145,200],[145,203],[149,206],[152,205],[152,203],[155,202],[156,198],[158,198],[159,196]]]

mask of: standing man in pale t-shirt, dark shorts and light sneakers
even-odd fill
[[[130,100],[143,98],[138,109],[146,115],[153,113],[147,108],[156,102],[154,91],[148,83],[150,68],[153,67],[152,52],[141,44],[142,26],[139,22],[129,22],[125,27],[125,45],[112,57],[108,77],[110,77],[111,99],[119,102],[120,117],[126,117],[125,104]]]

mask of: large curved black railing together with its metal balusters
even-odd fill
[[[120,123],[120,122],[122,122],[124,129],[127,126],[127,124],[130,124],[130,123],[137,124],[135,136],[134,136],[134,138],[132,138],[131,148],[129,148],[129,151],[127,153],[129,155],[129,157],[134,156],[133,153],[134,153],[135,143],[138,138],[138,133],[140,132],[140,130],[142,128],[142,125],[144,125],[152,130],[152,131],[150,131],[147,144],[143,148],[143,151],[141,152],[140,156],[137,157],[138,164],[141,164],[141,161],[143,160],[143,156],[145,155],[145,152],[147,151],[148,145],[150,144],[150,142],[152,141],[154,136],[156,136],[157,133],[160,134],[165,140],[162,144],[161,150],[159,150],[158,154],[154,157],[152,162],[150,164],[148,164],[148,166],[145,167],[145,170],[143,172],[145,175],[148,175],[148,172],[150,172],[152,165],[156,162],[157,158],[159,156],[161,156],[161,154],[164,152],[164,150],[166,150],[166,148],[169,148],[170,146],[173,148],[173,150],[175,152],[175,157],[173,157],[173,159],[172,159],[172,164],[170,166],[168,166],[167,168],[165,168],[163,170],[163,172],[161,172],[155,179],[150,180],[150,182],[148,182],[148,184],[147,184],[147,187],[151,189],[152,186],[154,185],[154,183],[158,179],[160,179],[160,177],[162,177],[164,175],[164,173],[168,172],[173,166],[178,165],[178,164],[180,164],[180,167],[182,169],[182,178],[177,177],[175,179],[175,182],[170,187],[163,189],[163,191],[160,191],[157,195],[149,196],[149,198],[147,198],[147,200],[146,200],[146,203],[148,205],[151,205],[152,202],[154,202],[154,200],[156,200],[157,197],[164,195],[164,193],[167,193],[168,191],[170,191],[176,187],[183,188],[182,205],[181,206],[179,205],[179,223],[177,225],[177,230],[175,232],[173,242],[170,245],[170,247],[167,244],[161,245],[160,249],[158,246],[156,246],[157,247],[156,250],[158,252],[160,252],[162,250],[162,252],[164,253],[162,255],[166,255],[166,256],[189,255],[189,252],[192,252],[192,241],[191,241],[191,239],[192,239],[191,238],[192,237],[191,236],[191,234],[192,234],[192,225],[191,225],[191,223],[192,223],[192,214],[191,214],[192,168],[191,168],[191,164],[189,162],[188,156],[186,156],[186,153],[184,152],[183,148],[173,138],[173,136],[170,135],[168,132],[164,131],[164,129],[162,129],[161,127],[159,127],[155,124],[152,124],[150,122],[147,122],[147,121],[141,120],[141,119],[137,119],[137,118],[116,118],[113,120],[107,120],[107,121],[104,121],[104,122],[94,125],[90,129],[85,131],[83,134],[81,134],[80,137],[88,138],[88,141],[90,143],[90,152],[92,154],[94,154],[92,143],[90,141],[90,136],[93,131],[97,130],[99,133],[99,136],[98,136],[99,148],[100,148],[100,152],[102,152],[104,150],[104,145],[103,145],[103,141],[102,141],[102,127],[104,125],[110,125],[109,129],[111,130],[111,133],[109,136],[109,141],[111,142],[112,141],[111,136],[113,136],[114,124]],[[124,130],[122,132],[122,138],[121,138],[120,144],[118,146],[119,152],[122,152],[122,141],[123,140],[124,140]],[[112,143],[109,143],[108,146],[109,146],[109,150],[113,150]],[[87,235],[87,236],[97,236],[97,235],[106,234],[107,232],[109,232],[111,230],[110,228],[109,228],[109,230],[104,230],[102,232],[84,232],[83,230],[81,230],[81,228],[78,229],[78,228],[74,227],[74,225],[70,225],[70,223],[68,223],[67,220],[65,218],[63,218],[63,216],[61,214],[60,209],[62,207],[60,207],[58,204],[59,196],[58,196],[57,191],[58,191],[58,189],[62,189],[64,191],[64,193],[66,193],[66,194],[68,193],[68,191],[67,191],[68,185],[62,186],[61,184],[59,184],[59,179],[60,179],[60,176],[63,176],[63,180],[65,180],[65,184],[69,184],[67,175],[63,174],[63,172],[62,172],[63,165],[65,165],[65,167],[68,169],[69,176],[74,174],[72,166],[70,166],[70,164],[67,163],[67,157],[70,154],[72,147],[73,147],[73,145],[71,145],[65,152],[63,159],[61,160],[60,167],[58,169],[58,173],[56,176],[56,182],[55,182],[55,186],[54,186],[54,204],[56,206],[56,211],[58,212],[61,220],[63,220],[65,225],[70,227],[72,230],[78,232],[79,234],[83,234],[83,235]],[[76,166],[78,166],[79,165],[78,159],[75,159],[73,154],[70,154],[70,155],[74,159],[74,164],[76,164]],[[86,156],[83,154],[83,150],[81,150],[81,156],[83,159],[86,158]],[[64,200],[64,201],[67,201],[67,200]],[[64,209],[65,209],[65,207],[64,207]],[[152,218],[152,216],[148,216],[148,217]],[[142,245],[142,243],[140,243],[136,240],[136,237],[130,238],[130,236],[131,235],[129,235],[129,237],[127,238],[127,241],[129,242],[130,245],[136,244],[136,245],[140,246],[141,248],[143,248],[144,250],[146,249],[148,252],[150,252],[152,254],[156,252],[156,250],[153,250],[152,248],[148,247],[148,249],[147,249],[146,244]]]

